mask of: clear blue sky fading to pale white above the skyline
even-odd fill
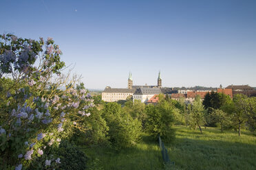
[[[87,88],[256,86],[255,0],[1,0],[0,34],[54,38]]]

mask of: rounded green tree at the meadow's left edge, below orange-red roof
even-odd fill
[[[146,108],[146,132],[157,139],[158,134],[163,141],[171,142],[175,136],[173,123],[175,121],[173,106],[168,101],[162,100],[156,106]]]

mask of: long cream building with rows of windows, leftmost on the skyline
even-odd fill
[[[126,100],[127,97],[134,95],[136,89],[111,88],[107,86],[102,93],[102,100],[107,102]]]

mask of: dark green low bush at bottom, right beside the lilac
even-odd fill
[[[74,143],[68,141],[61,142],[57,149],[57,154],[61,158],[61,165],[59,169],[87,169],[87,156],[81,151],[81,148],[76,147]]]

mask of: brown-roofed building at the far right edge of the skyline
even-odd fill
[[[256,90],[248,85],[231,85],[227,86],[225,89],[232,89],[233,96],[237,94],[247,95],[248,97],[256,96]]]

